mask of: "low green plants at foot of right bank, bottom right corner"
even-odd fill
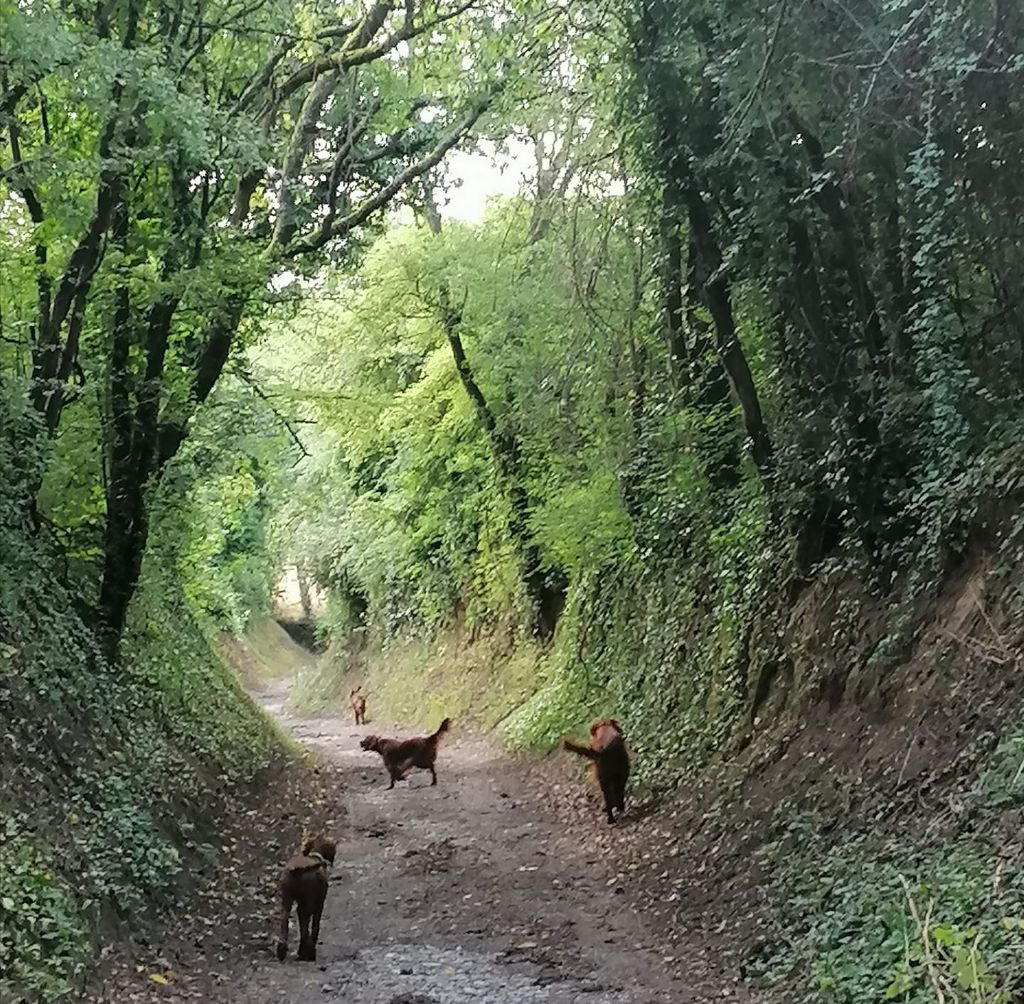
[[[836,1004],[1017,998],[1024,873],[1016,865],[970,839],[861,835],[829,846],[814,828],[791,819],[788,834],[760,852],[785,904],[778,940],[759,964],[768,982],[793,999]]]

